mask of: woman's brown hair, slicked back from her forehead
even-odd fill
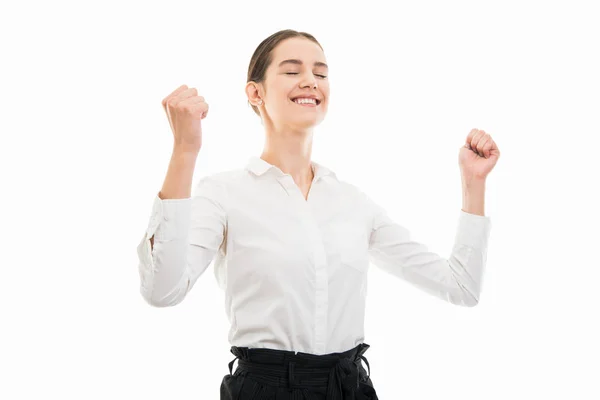
[[[253,81],[256,83],[261,83],[265,80],[265,74],[267,72],[267,68],[271,65],[271,61],[273,61],[271,57],[271,53],[273,49],[277,47],[279,43],[282,41],[293,38],[293,37],[304,37],[308,40],[312,40],[316,44],[323,49],[321,44],[315,39],[313,35],[306,32],[298,32],[292,29],[284,29],[279,32],[275,32],[265,40],[263,40],[256,50],[254,50],[254,54],[250,59],[250,65],[248,66],[248,80],[247,82]],[[248,102],[250,104],[250,102]],[[260,112],[255,105],[252,105],[252,109],[260,117]]]

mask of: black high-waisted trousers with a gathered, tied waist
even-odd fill
[[[221,382],[221,400],[378,400],[363,356],[369,347],[315,355],[232,346],[236,357]]]

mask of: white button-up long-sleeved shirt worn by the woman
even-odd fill
[[[452,304],[477,304],[488,216],[460,210],[452,253],[443,258],[356,186],[312,167],[307,200],[289,174],[259,157],[200,179],[190,198],[157,193],[137,247],[144,299],[178,304],[214,260],[231,345],[312,354],[364,341],[370,261]]]

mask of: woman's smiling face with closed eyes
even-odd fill
[[[279,43],[271,56],[260,93],[263,118],[284,129],[308,129],[321,123],[329,103],[328,70],[321,47],[295,37]],[[315,98],[316,104],[298,102],[302,98]]]

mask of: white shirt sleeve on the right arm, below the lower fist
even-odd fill
[[[368,199],[373,226],[369,243],[371,262],[415,287],[455,305],[479,302],[491,229],[488,216],[460,210],[449,258],[411,239],[407,228]]]

